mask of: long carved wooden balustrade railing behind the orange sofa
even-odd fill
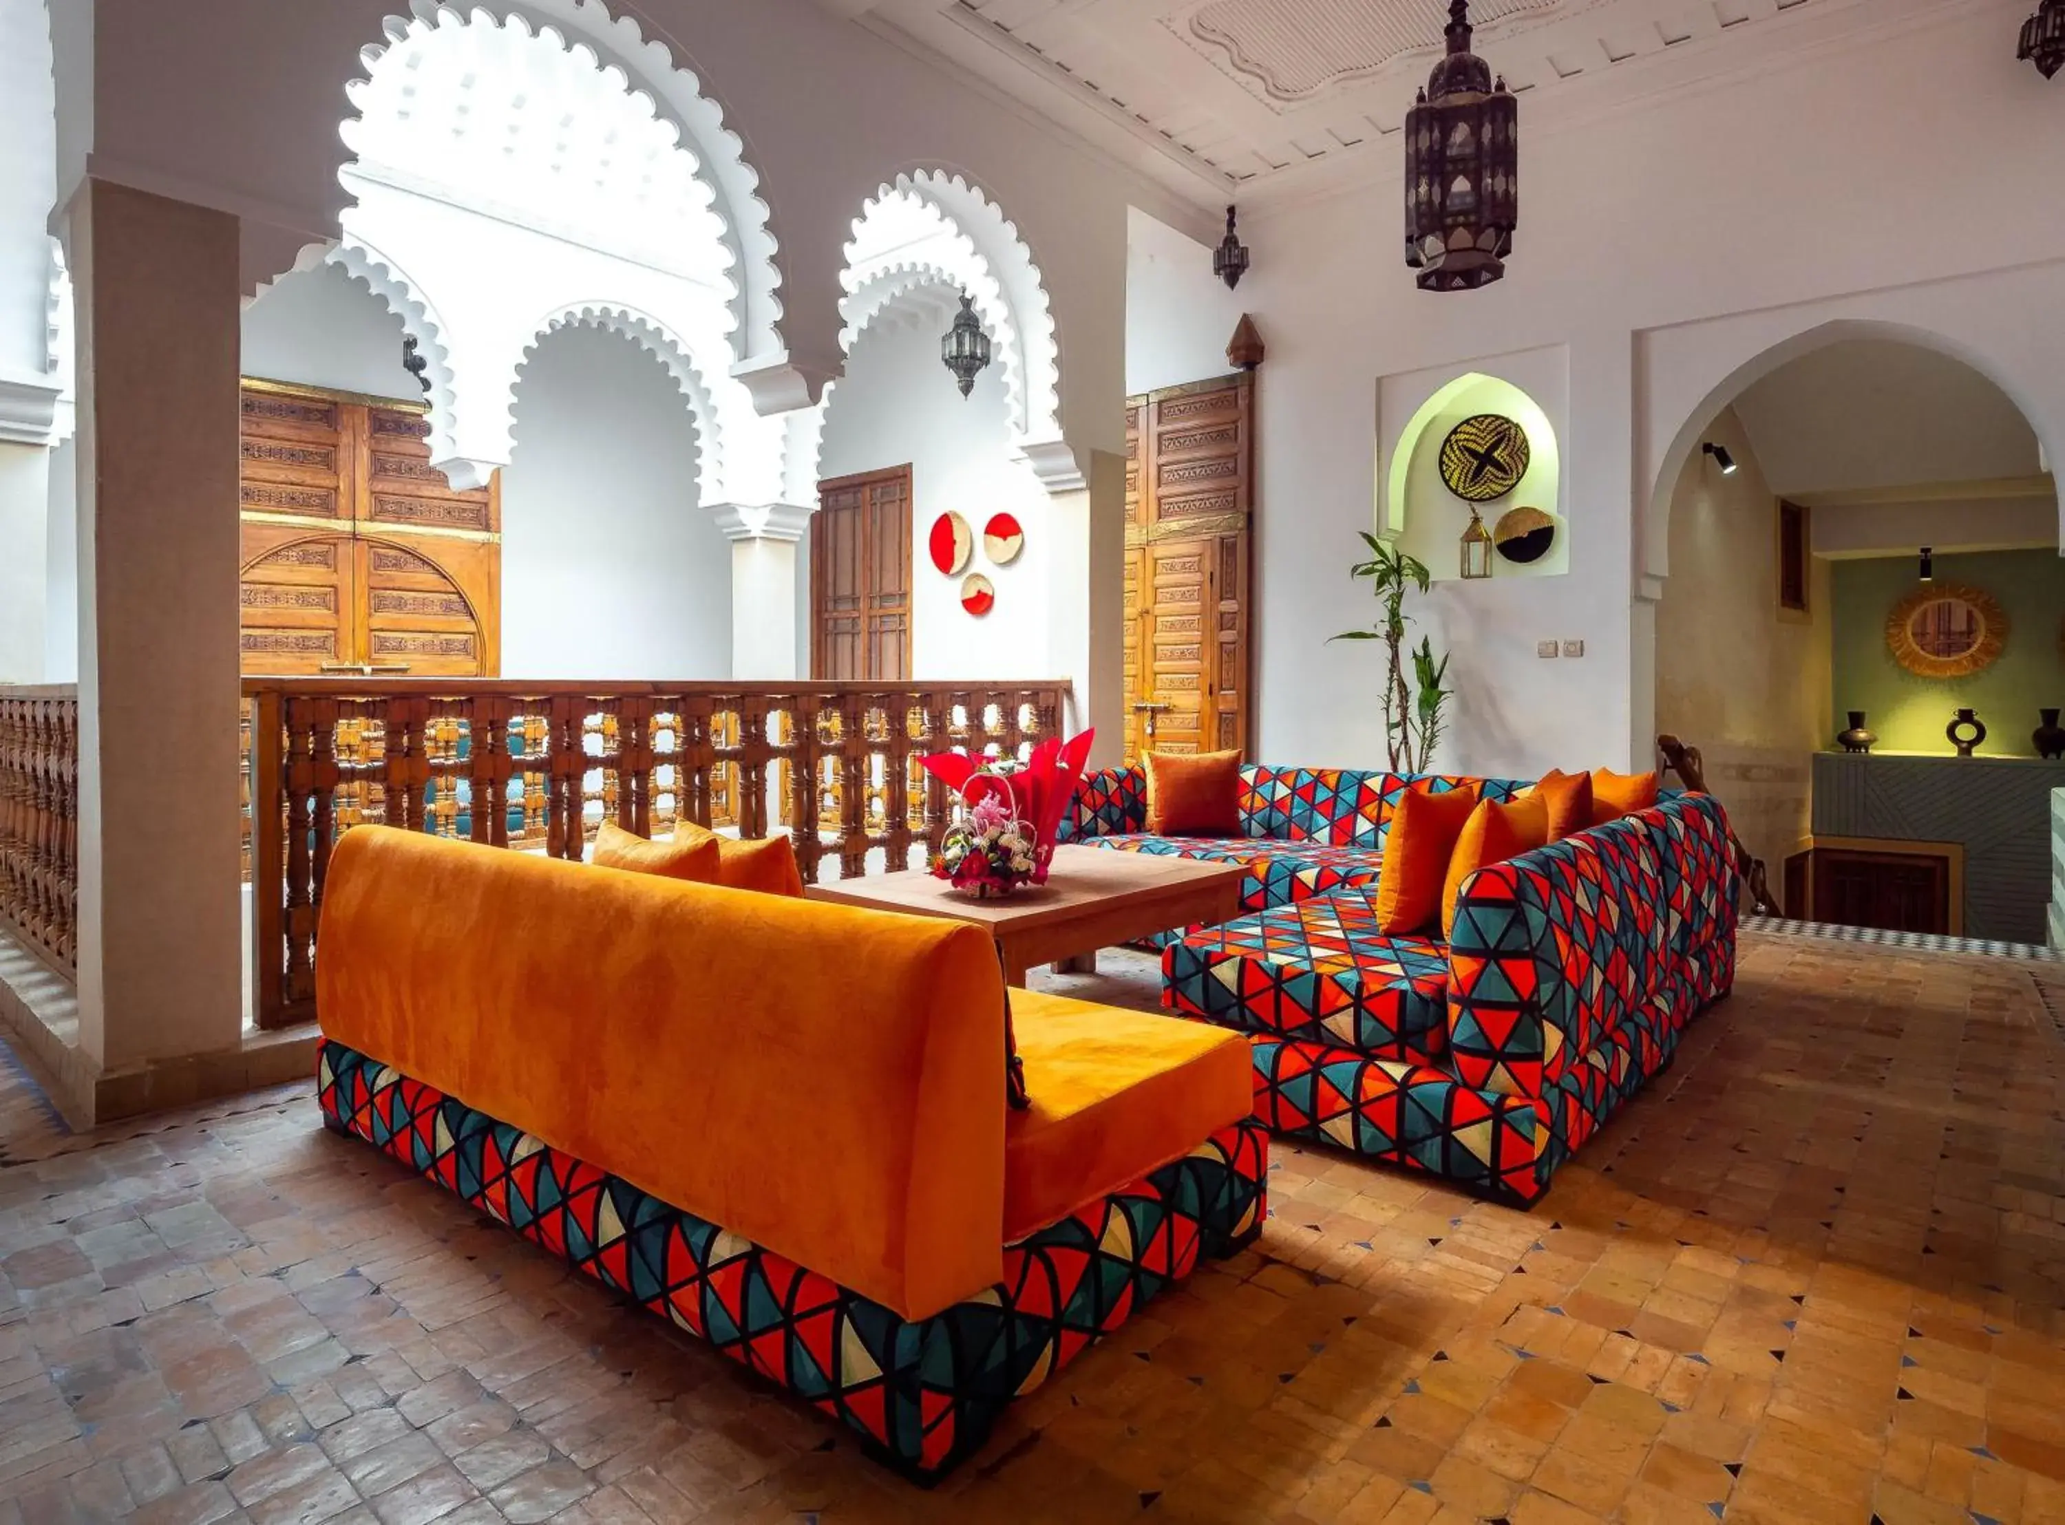
[[[888,871],[946,821],[917,759],[1018,755],[1059,735],[1063,681],[525,683],[246,679],[258,1026],[314,1015],[316,920],[339,832],[384,821],[580,858],[603,819],[768,836],[787,821],[807,881],[882,852]],[[770,792],[781,794],[774,811]]]

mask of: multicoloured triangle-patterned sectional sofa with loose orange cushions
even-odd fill
[[[1163,1005],[1249,1036],[1270,1131],[1516,1203],[1677,1050],[1735,980],[1728,821],[1706,794],[1472,875],[1454,943],[1386,937],[1398,797],[1472,780],[1245,768],[1239,838],[1154,838],[1138,768],[1084,780],[1080,842],[1247,867],[1243,916],[1171,931]],[[1481,780],[1512,799],[1514,780]]]

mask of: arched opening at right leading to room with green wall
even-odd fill
[[[1681,446],[1656,728],[1706,751],[1786,912],[2042,943],[2048,875],[2001,852],[2046,838],[2024,759],[2065,702],[2059,499],[2022,409],[1929,343],[1832,332],[1745,367]]]

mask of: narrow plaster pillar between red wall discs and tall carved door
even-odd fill
[[[1090,768],[1111,768],[1125,745],[1125,456],[1092,450],[1084,487],[1051,501],[1053,607],[1039,677],[1070,679],[1063,731],[1097,726]]]

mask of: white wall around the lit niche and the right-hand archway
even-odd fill
[[[1832,320],[1935,330],[2065,458],[2065,196],[2026,190],[2057,177],[2059,95],[2001,43],[2009,12],[1947,6],[1553,134],[1528,134],[1522,103],[1522,223],[1485,291],[1415,287],[1396,177],[1256,217],[1260,753],[1384,751],[1375,706],[1342,702],[1371,693],[1367,652],[1326,644],[1369,619],[1340,567],[1390,444],[1371,427],[1379,378],[1569,357],[1569,576],[1441,590],[1429,619],[1466,685],[1446,759],[1493,774],[1650,755],[1654,603],[1635,592],[1669,567],[1650,512],[1770,347]],[[1549,634],[1584,640],[1584,660],[1538,660]]]

